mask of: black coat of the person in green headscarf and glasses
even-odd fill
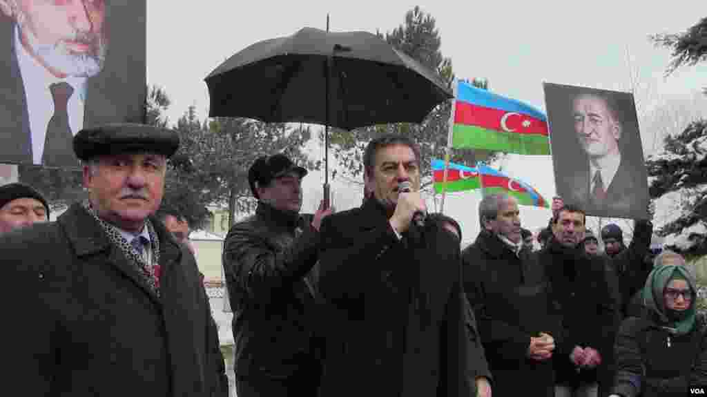
[[[689,396],[691,386],[706,387],[707,334],[703,321],[695,324],[683,336],[670,336],[650,314],[625,319],[614,346],[617,374],[612,393],[678,397]]]

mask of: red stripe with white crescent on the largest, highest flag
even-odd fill
[[[547,122],[528,116],[527,114],[507,112],[501,109],[491,109],[472,105],[468,102],[456,101],[454,115],[455,124],[481,126],[496,131],[506,131],[501,126],[503,116],[506,115],[506,128],[517,134],[537,134],[549,136]]]

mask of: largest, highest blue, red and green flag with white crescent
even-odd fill
[[[450,145],[521,155],[549,155],[547,117],[530,105],[457,83]]]

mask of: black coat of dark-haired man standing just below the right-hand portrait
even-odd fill
[[[555,336],[553,362],[556,381],[597,381],[612,362],[612,345],[616,334],[617,302],[607,278],[605,261],[589,256],[583,249],[567,249],[556,239],[539,251],[550,282],[551,308],[561,321],[561,332]],[[569,360],[575,346],[596,349],[602,365],[596,369],[580,369]]]

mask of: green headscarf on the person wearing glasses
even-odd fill
[[[692,300],[690,307],[681,313],[680,316],[671,316],[665,307],[663,300],[663,290],[671,280],[686,280],[692,290]],[[643,288],[643,305],[649,312],[653,312],[658,319],[665,324],[672,333],[683,335],[692,331],[695,324],[695,300],[696,300],[696,280],[689,268],[682,265],[664,265],[653,268],[648,278],[645,280]]]

